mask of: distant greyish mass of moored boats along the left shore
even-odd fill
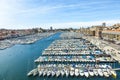
[[[14,46],[15,44],[32,44],[37,40],[53,35],[54,33],[38,33],[0,41],[0,50]]]

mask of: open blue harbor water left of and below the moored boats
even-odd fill
[[[54,40],[60,39],[60,34],[56,33],[50,37],[40,39],[33,44],[15,45],[0,50],[0,80],[120,80],[120,71],[117,71],[116,79],[112,77],[27,77],[27,73],[37,66],[34,60]],[[116,68],[120,67],[119,63],[110,64]]]

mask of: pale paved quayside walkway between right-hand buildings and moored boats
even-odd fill
[[[120,62],[120,46],[106,42],[104,40],[97,39],[95,37],[87,36],[83,37],[84,39],[89,40],[92,44],[98,46],[101,50],[110,54],[115,60]]]

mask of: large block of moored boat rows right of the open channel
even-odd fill
[[[34,60],[38,63],[35,68],[37,72],[30,71],[28,76],[37,73],[43,77],[117,77],[115,69],[110,64],[117,61],[111,55],[81,37],[73,37],[73,33],[69,33],[66,38],[65,35],[63,38],[63,34],[61,39],[52,42],[43,51],[42,56]]]

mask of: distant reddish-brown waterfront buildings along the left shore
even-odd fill
[[[30,35],[30,34],[34,34],[34,33],[41,33],[41,32],[43,32],[42,28],[19,29],[19,30],[0,29],[0,40],[19,37],[19,36]]]

